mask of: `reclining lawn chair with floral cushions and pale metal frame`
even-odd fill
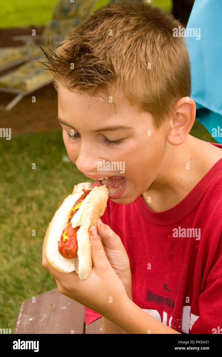
[[[46,52],[48,51],[48,46],[49,46],[48,41],[51,36],[52,50],[56,52],[56,47],[58,45],[56,45],[55,42],[60,42],[64,40],[71,33],[73,27],[80,24],[81,21],[89,15],[96,2],[97,0],[85,0],[85,1],[75,0],[74,2],[70,2],[70,0],[60,0],[57,6],[55,7],[53,13],[53,19],[50,21],[50,24],[43,31],[42,34],[42,43],[44,43],[44,45],[42,45],[43,49]],[[49,84],[52,81],[52,79],[50,79],[48,76],[49,71],[43,70],[45,69],[45,66],[42,65],[41,63],[34,62],[34,60],[45,61],[46,60],[45,55],[43,55],[42,50],[40,49],[39,46],[37,45],[32,46],[32,49],[33,48],[35,48],[36,52],[35,52],[35,57],[32,58],[32,61],[27,62],[21,65],[16,70],[11,71],[5,74],[4,76],[0,77],[0,91],[8,92],[16,95],[14,99],[12,99],[9,102],[9,104],[7,104],[5,107],[0,106],[0,110],[11,110],[24,96]],[[24,46],[23,50],[24,49],[25,51],[28,51],[27,46]],[[6,50],[8,51],[6,52],[9,56],[13,55],[12,49],[6,48]],[[15,57],[16,61],[21,61],[21,58],[19,58],[20,54],[21,54],[21,50],[17,55],[18,57]],[[31,50],[29,52],[29,56],[31,56]],[[4,63],[6,62],[7,62],[7,56],[5,55]],[[1,65],[1,61],[0,61],[0,65]]]

